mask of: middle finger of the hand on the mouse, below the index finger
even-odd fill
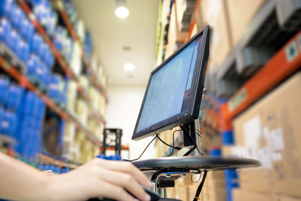
[[[151,200],[151,196],[144,191],[132,175],[110,170],[106,170],[105,172],[106,174],[99,174],[101,179],[125,188],[129,193],[141,201]]]

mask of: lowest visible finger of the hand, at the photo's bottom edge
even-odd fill
[[[101,194],[99,194],[99,196],[104,198],[116,199],[117,201],[138,201],[127,193],[123,187],[116,186],[108,182],[102,182],[102,185],[98,186],[97,193],[100,192]]]

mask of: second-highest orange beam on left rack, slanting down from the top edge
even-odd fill
[[[63,56],[61,55],[61,53],[55,48],[53,42],[51,41],[51,39],[49,38],[49,36],[46,34],[44,28],[39,24],[39,21],[36,19],[35,15],[32,13],[32,11],[30,10],[30,8],[27,5],[27,3],[24,0],[18,0],[18,3],[20,5],[20,7],[24,10],[24,12],[26,13],[26,15],[28,16],[29,20],[32,22],[32,24],[36,27],[36,29],[38,30],[38,32],[41,34],[41,36],[43,37],[43,39],[45,40],[45,42],[47,42],[47,44],[49,45],[51,51],[54,54],[54,57],[56,58],[56,60],[60,64],[61,68],[64,70],[64,72],[69,77],[71,77],[72,80],[74,80],[77,83],[77,89],[78,89],[80,95],[83,97],[83,99],[87,103],[89,103],[89,98],[87,96],[87,92],[85,92],[85,90],[83,89],[83,87],[79,84],[78,77],[73,73],[73,71],[71,70],[70,66],[68,66],[66,60],[63,58]]]

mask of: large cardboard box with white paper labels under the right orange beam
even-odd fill
[[[234,119],[245,155],[272,170],[275,192],[301,196],[301,73],[296,73]]]

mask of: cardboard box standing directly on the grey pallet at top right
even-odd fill
[[[235,46],[265,0],[227,0],[226,2],[231,36]]]

